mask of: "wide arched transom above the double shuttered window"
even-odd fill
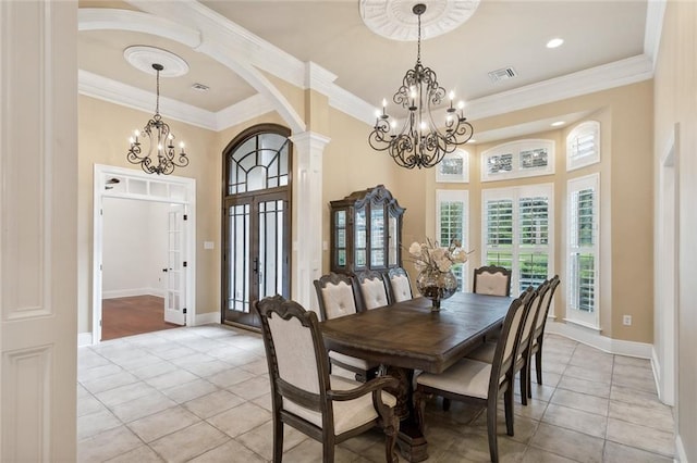
[[[517,140],[481,153],[481,182],[554,173],[554,141]]]

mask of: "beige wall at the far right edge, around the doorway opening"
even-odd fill
[[[697,461],[697,3],[668,2],[655,80],[653,158],[657,166],[661,165],[675,125],[680,127],[674,140],[680,228],[677,436],[687,461]],[[659,255],[660,251],[658,249]],[[657,306],[657,311],[663,313],[668,310]]]

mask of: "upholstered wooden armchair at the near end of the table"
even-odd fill
[[[283,425],[322,445],[322,461],[334,461],[334,446],[374,426],[386,434],[386,461],[396,463],[396,399],[384,388],[392,377],[362,384],[329,374],[329,359],[317,314],[281,296],[257,303],[271,380],[273,462],[283,458]]]

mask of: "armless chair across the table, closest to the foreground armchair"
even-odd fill
[[[350,275],[330,273],[314,281],[317,302],[322,320],[332,320],[358,312],[358,297],[354,279]],[[352,372],[356,380],[366,381],[374,377],[379,364],[368,362],[337,351],[329,351],[332,365]]]

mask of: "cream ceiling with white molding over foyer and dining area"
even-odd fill
[[[234,109],[244,113],[241,102],[257,95],[247,65],[297,85],[297,76],[283,68],[315,63],[329,74],[314,76],[325,83],[335,76],[326,88],[330,102],[341,101],[333,105],[351,107],[353,115],[368,122],[416,61],[416,42],[368,29],[359,0],[90,0],[80,7],[81,92],[151,112],[154,96],[143,97],[154,93],[155,78],[126,63],[123,50],[162,48],[189,66],[184,76],[162,78],[162,114],[185,121],[193,114],[187,122],[213,129],[230,125],[221,116]],[[96,16],[94,9],[100,9]],[[144,16],[145,26],[138,27],[131,16],[121,16],[123,10],[155,16]],[[442,87],[467,102],[476,129],[476,117],[650,78],[659,24],[655,12],[647,0],[481,0],[462,26],[423,41],[421,62],[437,72]],[[172,29],[175,36],[162,33]],[[546,48],[554,37],[564,45]],[[210,38],[219,49],[210,47]],[[225,52],[236,63],[216,61]],[[517,77],[491,82],[488,73],[503,67],[513,67]],[[196,91],[193,84],[210,90]]]

